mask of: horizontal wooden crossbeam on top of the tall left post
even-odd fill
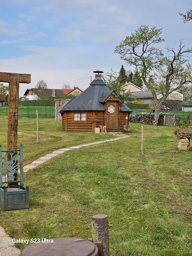
[[[19,78],[20,83],[30,84],[31,83],[31,74],[18,74],[18,73],[4,73],[0,72],[0,82],[11,82],[11,77]]]

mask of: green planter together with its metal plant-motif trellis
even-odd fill
[[[2,162],[2,152],[4,162]],[[29,208],[29,188],[23,186],[22,144],[16,150],[2,150],[0,145],[0,206],[5,211]]]

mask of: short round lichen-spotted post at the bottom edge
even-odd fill
[[[107,215],[98,214],[98,215],[92,216],[92,233],[93,233],[93,242],[102,241],[103,256],[110,256]]]

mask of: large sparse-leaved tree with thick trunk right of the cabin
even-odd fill
[[[183,85],[192,82],[192,66],[188,62],[188,54],[191,49],[179,45],[179,50],[167,47],[168,57],[154,47],[163,42],[160,37],[162,29],[152,26],[141,25],[135,33],[131,33],[115,47],[115,53],[120,55],[121,60],[137,68],[144,84],[151,90],[154,99],[154,125],[157,126],[161,105],[168,95],[178,90]],[[163,97],[157,99],[156,91],[159,90]]]

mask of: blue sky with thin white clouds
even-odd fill
[[[0,0],[0,72],[31,74],[20,97],[39,80],[86,89],[95,70],[134,70],[114,50],[141,25],[163,29],[161,49],[192,47],[192,21],[179,15],[191,8],[192,0]]]

